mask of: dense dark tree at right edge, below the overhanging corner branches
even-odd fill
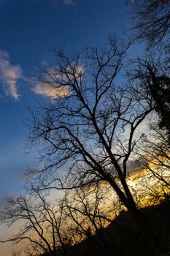
[[[165,50],[160,53],[148,50],[144,59],[138,58],[134,63],[134,70],[129,72],[131,79],[143,80],[158,113],[158,126],[165,129],[170,138],[169,53]]]

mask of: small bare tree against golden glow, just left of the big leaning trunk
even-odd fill
[[[102,228],[114,219],[116,210],[113,214],[108,189],[109,187],[107,186],[106,189],[104,184],[103,188],[101,186],[80,188],[75,192],[66,193],[63,198],[65,215],[72,223],[70,229],[77,237],[80,236],[80,241],[95,233],[101,236]]]

